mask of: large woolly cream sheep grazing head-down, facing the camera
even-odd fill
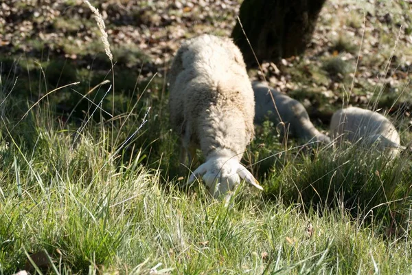
[[[254,137],[255,100],[242,54],[229,39],[202,35],[185,41],[170,69],[170,120],[182,142],[181,161],[201,148],[205,163],[187,181],[202,177],[209,192],[231,197],[244,179],[262,189],[240,164]]]

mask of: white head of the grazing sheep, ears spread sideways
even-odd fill
[[[245,168],[238,159],[232,157],[211,157],[199,166],[190,176],[187,184],[192,184],[196,177],[201,177],[207,186],[211,195],[218,199],[222,195],[226,196],[226,200],[231,197],[231,193],[235,190],[240,181],[244,179],[247,183],[263,190],[258,181]]]

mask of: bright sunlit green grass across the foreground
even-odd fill
[[[148,274],[156,266],[159,274],[363,274],[376,269],[385,274],[410,268],[409,241],[383,237],[376,228],[380,222],[358,225],[360,220],[339,208],[319,215],[313,208],[305,212],[299,203],[268,201],[253,193],[225,208],[201,186],[187,191],[165,181],[160,170],[146,168],[139,152],[128,162],[117,161],[106,149],[108,134],[96,137],[88,129],[73,146],[70,131],[35,115],[20,125],[19,131],[32,135],[11,134],[1,144],[3,274],[23,267],[24,250],[43,249],[62,274]],[[329,169],[317,161],[311,165]],[[296,178],[295,173],[304,174],[281,175]]]

